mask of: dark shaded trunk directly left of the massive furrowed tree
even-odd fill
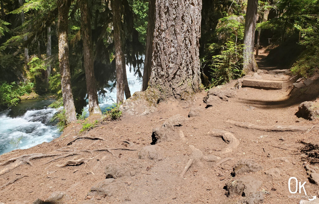
[[[143,71],[143,84],[142,91],[145,91],[148,87],[148,82],[151,77],[151,65],[152,65],[152,47],[154,39],[154,29],[155,29],[155,0],[148,1],[148,22],[146,31],[146,53],[144,61],[144,71]]]

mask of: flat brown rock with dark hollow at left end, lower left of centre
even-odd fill
[[[130,162],[111,163],[105,166],[106,179],[117,179],[122,176],[135,176],[142,166],[136,159],[128,158]]]

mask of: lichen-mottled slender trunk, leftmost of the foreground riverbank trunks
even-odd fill
[[[61,88],[63,106],[68,123],[77,120],[75,113],[73,94],[71,89],[71,75],[69,64],[69,44],[68,44],[68,13],[69,6],[67,0],[57,0],[58,6],[58,41],[59,41],[59,63],[61,74]]]

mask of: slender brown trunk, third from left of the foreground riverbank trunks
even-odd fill
[[[124,100],[124,82],[123,82],[123,50],[121,39],[121,13],[119,0],[112,1],[113,29],[115,42],[115,66],[116,66],[116,102],[121,103]]]

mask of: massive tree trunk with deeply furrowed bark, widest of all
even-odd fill
[[[200,88],[202,0],[156,0],[150,86],[187,99]]]

